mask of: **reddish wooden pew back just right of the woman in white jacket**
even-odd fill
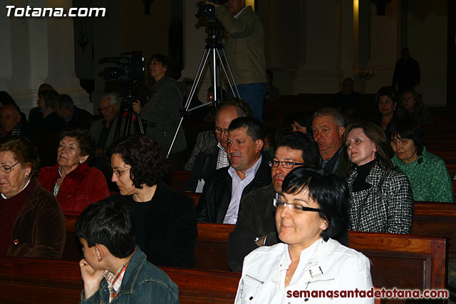
[[[349,238],[350,248],[371,259],[375,286],[445,289],[445,239],[359,231],[349,231]]]

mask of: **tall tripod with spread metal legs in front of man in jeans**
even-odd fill
[[[196,110],[197,108],[201,108],[201,107],[204,107],[204,106],[210,104],[210,103],[206,103],[204,105],[198,105],[197,107],[189,110],[190,103],[193,99],[193,95],[195,95],[197,86],[199,84],[199,81],[201,80],[202,73],[204,72],[204,68],[206,68],[208,58],[210,58],[210,63],[211,63],[212,87],[214,88],[214,105],[217,107],[217,103],[222,101],[222,91],[219,92],[217,90],[218,87],[223,88],[222,70],[223,70],[225,77],[228,80],[229,89],[232,91],[234,97],[241,98],[241,96],[239,95],[239,91],[237,90],[237,86],[236,86],[236,82],[233,77],[233,73],[231,71],[231,68],[229,67],[227,53],[225,53],[222,43],[219,42],[219,36],[222,33],[222,26],[209,25],[209,27],[206,28],[206,33],[209,34],[210,41],[204,47],[204,53],[202,54],[202,58],[201,58],[201,61],[199,62],[197,74],[195,75],[195,82],[193,83],[192,88],[190,89],[190,93],[188,95],[187,102],[185,103],[185,107],[182,110],[180,122],[179,122],[179,125],[177,126],[175,135],[172,138],[170,150],[168,150],[167,157],[170,155],[172,145],[174,145],[174,142],[177,137],[177,132],[179,132],[179,128],[182,125],[182,120],[184,120],[184,117],[187,114],[187,112]],[[221,55],[221,53],[222,53],[222,55]],[[222,61],[222,57],[225,58],[226,67],[225,67],[224,62]]]

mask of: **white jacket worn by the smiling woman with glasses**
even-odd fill
[[[289,246],[262,246],[244,258],[235,304],[244,303],[363,303],[373,298],[293,298],[294,290],[370,290],[373,286],[368,258],[338,241],[318,239],[301,251],[288,286]],[[291,292],[291,293],[290,293]]]

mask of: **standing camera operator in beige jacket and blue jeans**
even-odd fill
[[[245,0],[229,0],[224,5],[212,1],[205,3],[215,7],[215,16],[229,33],[227,59],[239,95],[249,103],[254,116],[261,120],[266,93],[264,28],[261,19],[251,6],[245,6]]]

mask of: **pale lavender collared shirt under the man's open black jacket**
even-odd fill
[[[255,177],[255,174],[257,174],[259,165],[261,164],[261,159],[263,159],[263,157],[260,155],[257,162],[255,162],[252,167],[247,169],[247,172],[245,172],[244,179],[241,179],[239,175],[237,175],[236,169],[229,166],[228,173],[232,178],[231,201],[229,201],[227,214],[225,214],[223,224],[236,224],[237,213],[239,212],[239,204],[241,202],[242,192],[244,191],[244,188],[248,184],[250,184],[250,182],[252,182],[252,180]]]

